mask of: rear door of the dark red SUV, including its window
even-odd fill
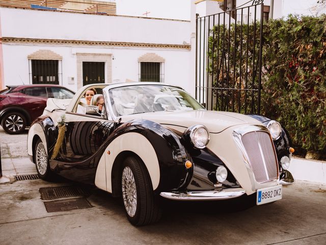
[[[20,106],[28,111],[31,121],[42,115],[46,107],[47,93],[45,87],[28,87],[21,90]]]

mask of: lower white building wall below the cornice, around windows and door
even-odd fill
[[[194,90],[189,69],[191,53],[187,50],[158,50],[150,48],[100,48],[69,47],[46,45],[4,44],[4,80],[5,85],[30,84],[29,62],[27,56],[38,50],[51,50],[63,57],[62,85],[77,90],[77,53],[111,54],[112,82],[139,81],[138,58],[146,53],[155,53],[165,59],[165,83],[183,87],[186,91]],[[74,77],[75,83],[68,84],[68,77]],[[105,76],[106,77],[106,76]],[[106,81],[110,82],[110,81]]]

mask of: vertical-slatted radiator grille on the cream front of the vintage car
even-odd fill
[[[267,132],[255,131],[241,137],[257,182],[278,178],[278,165],[273,142]]]

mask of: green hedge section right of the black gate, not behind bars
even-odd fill
[[[262,114],[279,120],[302,153],[326,158],[326,15],[289,15],[263,30]]]

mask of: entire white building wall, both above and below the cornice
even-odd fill
[[[190,49],[190,21],[0,8],[0,24],[4,38],[128,43],[127,46],[113,46],[3,42],[4,85],[18,85],[22,81],[32,83],[28,56],[39,50],[50,50],[62,57],[60,84],[74,91],[78,89],[77,54],[111,55],[112,74],[105,74],[107,83],[139,81],[138,58],[155,53],[165,59],[165,83],[179,85],[193,94],[195,78],[191,72],[194,60]],[[149,43],[152,47],[133,47],[132,43]],[[153,44],[164,44],[165,47],[153,47]],[[69,77],[74,78],[74,84],[68,84]]]

